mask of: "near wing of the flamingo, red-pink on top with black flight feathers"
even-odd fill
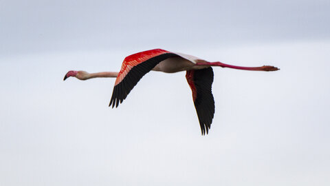
[[[151,71],[159,62],[174,56],[178,55],[162,49],[147,50],[126,56],[115,79],[109,106],[118,107],[144,74]]]

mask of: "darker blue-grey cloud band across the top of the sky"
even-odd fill
[[[0,1],[0,54],[329,39],[329,9],[327,0]]]

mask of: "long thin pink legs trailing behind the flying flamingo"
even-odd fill
[[[196,63],[196,65],[207,65],[207,66],[219,66],[222,68],[234,68],[239,70],[255,70],[255,71],[276,71],[280,70],[279,68],[276,68],[274,66],[269,65],[263,65],[261,67],[241,67],[241,66],[235,66],[235,65],[228,65],[221,62],[202,62],[202,63]]]

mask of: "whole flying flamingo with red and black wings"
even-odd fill
[[[208,62],[195,56],[169,52],[162,49],[147,50],[126,56],[122,62],[120,72],[88,73],[85,71],[70,70],[65,74],[63,81],[70,76],[80,80],[98,77],[115,77],[115,85],[109,103],[109,107],[118,107],[131,92],[138,81],[151,70],[174,73],[186,71],[186,79],[192,90],[201,134],[208,134],[214,117],[214,98],[212,95],[213,70],[212,66],[222,68],[234,68],[239,70],[276,71],[278,68],[270,65],[261,67],[241,67],[228,65],[221,62]]]

